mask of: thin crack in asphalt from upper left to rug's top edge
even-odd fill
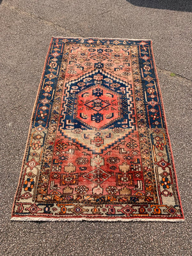
[[[42,18],[42,17],[40,17],[38,15],[35,15],[33,13],[29,13],[29,12],[25,12],[25,11],[20,10],[19,8],[15,7],[15,6],[12,6],[12,5],[8,4],[8,3],[3,3],[3,5],[5,7],[7,7],[7,8],[10,8],[11,10],[15,10],[16,12],[20,13],[21,15],[28,15],[29,17],[33,17],[34,19],[38,19],[38,20],[44,22],[45,24],[48,24],[49,26],[56,26],[57,28],[65,30],[66,32],[68,31],[68,32],[70,32],[72,34],[75,34],[76,36],[83,37],[82,35],[77,34],[76,31],[72,31],[71,29],[66,29],[63,26],[61,26],[60,24],[51,22],[50,20],[46,20],[46,19],[44,19],[44,18]]]

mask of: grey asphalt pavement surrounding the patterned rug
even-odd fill
[[[191,1],[0,4],[0,255],[191,255]],[[51,36],[153,40],[184,223],[10,221]]]

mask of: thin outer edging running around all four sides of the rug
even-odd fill
[[[162,111],[163,111],[163,115],[164,115],[164,128],[166,129],[166,133],[167,133],[167,138],[168,138],[168,141],[169,141],[169,146],[170,146],[170,152],[171,152],[171,155],[172,155],[172,163],[173,163],[173,172],[175,174],[175,183],[176,183],[176,187],[177,187],[177,195],[178,195],[178,198],[179,198],[179,204],[180,204],[180,210],[182,212],[182,218],[138,218],[138,217],[135,217],[135,218],[127,218],[127,219],[122,219],[122,218],[115,218],[115,219],[104,219],[104,218],[41,218],[41,217],[28,217],[28,216],[25,216],[25,217],[19,217],[19,216],[13,216],[13,210],[14,210],[14,207],[15,207],[15,201],[16,201],[16,197],[17,197],[17,191],[19,189],[19,186],[20,186],[20,181],[22,179],[22,171],[23,171],[23,166],[24,166],[24,161],[25,161],[25,156],[26,156],[26,151],[28,149],[28,143],[29,143],[29,134],[31,132],[31,127],[32,127],[32,123],[33,123],[33,113],[35,111],[35,107],[36,107],[36,103],[38,101],[38,96],[40,94],[40,89],[41,89],[41,84],[42,84],[42,81],[44,79],[44,75],[45,75],[45,68],[46,68],[46,65],[47,65],[47,60],[48,60],[48,57],[49,57],[49,52],[51,50],[51,45],[52,45],[52,42],[55,38],[63,38],[63,39],[99,39],[99,40],[130,40],[130,41],[150,41],[150,49],[151,49],[151,54],[152,54],[152,61],[154,63],[154,71],[155,71],[155,74],[156,74],[156,81],[157,81],[157,88],[159,89],[159,95],[160,95],[160,100],[161,100],[161,106],[162,106]],[[164,104],[163,104],[163,97],[162,97],[162,93],[161,93],[161,87],[160,87],[160,84],[159,84],[159,77],[157,76],[157,68],[156,68],[156,61],[155,61],[155,58],[154,58],[154,51],[153,51],[153,45],[152,45],[152,40],[151,39],[129,39],[129,38],[99,38],[99,37],[81,37],[81,36],[77,36],[77,37],[64,37],[64,36],[52,36],[51,37],[51,42],[49,44],[49,49],[47,51],[47,54],[46,54],[46,57],[45,57],[45,62],[44,62],[44,69],[42,71],[42,76],[41,76],[41,79],[40,79],[40,83],[38,84],[38,92],[36,93],[36,99],[35,99],[35,103],[34,103],[34,106],[33,106],[33,111],[32,111],[32,114],[31,114],[31,120],[30,120],[30,125],[29,125],[29,132],[28,132],[28,139],[26,141],[26,148],[24,150],[24,155],[23,155],[23,159],[22,159],[22,166],[21,166],[21,170],[20,170],[20,176],[19,176],[19,182],[18,182],[18,185],[17,185],[17,189],[15,191],[15,196],[14,196],[14,200],[13,200],[13,207],[12,207],[12,218],[11,218],[11,221],[108,221],[108,222],[116,222],[116,221],[124,221],[124,222],[128,222],[128,221],[164,221],[164,222],[183,222],[185,221],[185,218],[184,218],[184,212],[183,212],[183,208],[182,208],[182,204],[181,204],[181,199],[180,199],[180,193],[179,193],[179,186],[178,186],[178,180],[177,180],[177,173],[176,173],[176,170],[175,170],[175,163],[174,163],[174,158],[173,158],[173,152],[172,152],[172,145],[171,145],[171,142],[170,142],[170,135],[168,133],[168,127],[167,127],[167,122],[166,122],[166,115],[165,115],[165,112],[164,112]]]

